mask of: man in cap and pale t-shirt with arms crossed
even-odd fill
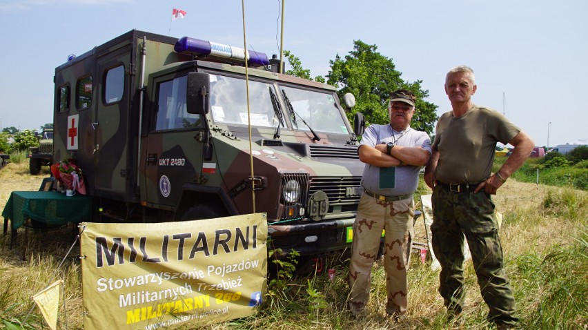
[[[429,162],[431,139],[410,127],[415,95],[409,90],[396,90],[390,96],[390,124],[366,128],[357,149],[366,166],[364,193],[353,223],[347,307],[357,315],[368,302],[371,268],[384,230],[386,314],[398,322],[408,307],[406,268],[413,229],[413,193],[420,168]]]

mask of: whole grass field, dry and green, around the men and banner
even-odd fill
[[[9,164],[0,171],[0,205],[11,191],[34,191],[41,178],[28,174],[28,163]],[[427,193],[426,187],[420,193]],[[504,215],[500,236],[506,271],[516,296],[522,329],[588,329],[588,193],[509,179],[494,198]],[[422,239],[422,219],[415,224]],[[63,266],[58,265],[72,244],[70,231],[35,235],[27,261],[21,246],[9,249],[9,237],[0,240],[0,324],[22,324],[25,329],[46,329],[30,297],[56,279],[65,280],[66,311],[59,311],[61,329],[82,329],[79,248],[74,246]],[[19,233],[21,237],[22,233]],[[420,238],[421,237],[421,238]],[[367,313],[351,318],[343,307],[349,291],[346,263],[332,262],[337,275],[311,274],[273,285],[255,316],[204,329],[492,329],[485,321],[487,307],[480,297],[471,262],[466,265],[467,302],[462,317],[448,321],[437,293],[438,273],[418,255],[409,269],[409,313],[394,324],[384,318],[385,276],[380,262],[373,269]],[[0,325],[0,328],[2,326]],[[179,327],[173,329],[188,329]]]

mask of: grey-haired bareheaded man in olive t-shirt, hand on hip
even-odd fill
[[[500,113],[476,106],[473,70],[457,66],[447,72],[445,93],[452,110],[435,129],[431,162],[424,172],[433,188],[433,252],[441,264],[439,292],[450,313],[462,311],[465,298],[463,245],[467,239],[488,320],[498,329],[515,327],[514,298],[503,269],[502,246],[491,195],[533,150],[533,141]],[[496,143],[515,148],[491,174]]]

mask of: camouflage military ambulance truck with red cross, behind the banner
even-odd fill
[[[255,211],[284,252],[349,246],[362,126],[333,86],[279,74],[251,50],[246,70],[245,54],[131,30],[56,68],[54,156],[77,159],[96,221]]]

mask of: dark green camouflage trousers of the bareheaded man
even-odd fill
[[[482,298],[491,322],[516,324],[514,298],[502,264],[502,246],[494,203],[484,191],[455,193],[440,185],[433,189],[433,252],[441,264],[439,293],[455,312],[463,307],[464,235]]]

